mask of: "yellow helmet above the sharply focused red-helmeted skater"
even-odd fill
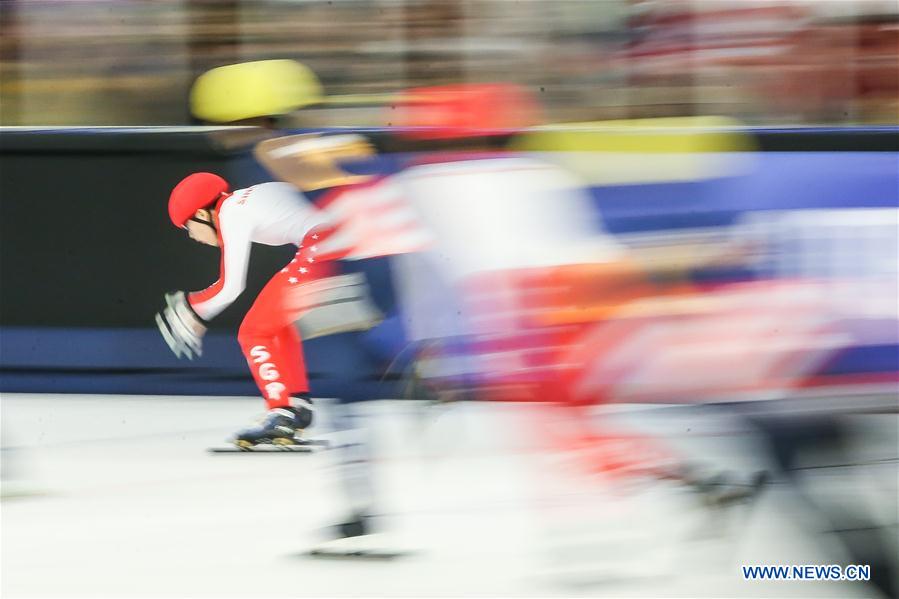
[[[295,60],[260,60],[206,71],[190,90],[190,112],[198,119],[230,123],[287,114],[320,102],[322,87]]]

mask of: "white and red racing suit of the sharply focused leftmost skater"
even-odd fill
[[[219,200],[216,226],[222,252],[220,276],[188,295],[204,320],[227,308],[246,286],[253,243],[295,244],[297,253],[265,285],[238,331],[238,342],[269,408],[289,405],[308,393],[302,343],[294,323],[314,301],[298,300],[315,286],[305,284],[337,272],[335,260],[413,251],[420,245],[386,181],[336,188],[319,210],[288,183],[262,183]]]

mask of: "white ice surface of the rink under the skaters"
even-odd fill
[[[204,451],[260,408],[250,398],[5,394],[0,594],[873,593],[858,583],[742,580],[741,563],[846,563],[838,547],[803,532],[785,486],[772,486],[753,511],[714,523],[673,488],[626,490],[566,477],[556,458],[528,449],[525,410],[509,405],[453,406],[428,415],[426,427],[415,404],[370,405],[384,504],[402,542],[418,551],[392,562],[304,558],[316,530],[341,511],[328,469],[333,456]],[[664,432],[722,465],[762,463],[757,440],[719,416],[644,408],[611,418]],[[859,423],[896,427],[892,416]],[[893,497],[894,467],[867,477]]]

